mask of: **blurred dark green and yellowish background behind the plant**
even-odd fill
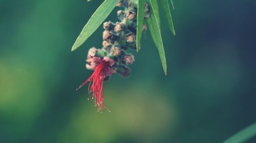
[[[102,2],[0,1],[0,142],[211,143],[256,122],[255,1],[174,0],[177,36],[161,22],[167,76],[146,32],[130,78],[104,83],[111,113],[98,113],[75,89],[102,26],[70,51]]]

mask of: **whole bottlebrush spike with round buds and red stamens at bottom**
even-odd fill
[[[140,46],[136,46],[136,5],[133,4],[133,1],[120,0],[117,6],[123,7],[124,10],[117,12],[118,21],[103,23],[102,48],[96,49],[92,47],[88,52],[86,60],[86,68],[94,70],[94,72],[78,88],[80,89],[90,81],[88,85],[88,99],[92,92],[92,97],[95,105],[98,106],[98,111],[103,111],[104,108],[109,110],[103,102],[105,98],[103,94],[103,82],[115,73],[122,77],[129,77],[131,69],[126,65],[133,64],[135,58],[127,50],[140,49]],[[145,4],[144,13],[150,14],[147,4]],[[143,24],[142,32],[145,31],[146,25]]]

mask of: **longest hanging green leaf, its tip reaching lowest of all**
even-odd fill
[[[158,13],[156,12],[158,10],[156,8],[157,0],[147,0],[147,3],[149,4],[148,7],[151,12],[150,17],[147,19],[148,29],[150,30],[152,39],[158,48],[163,70],[166,75],[167,74],[166,59],[165,59],[163,41],[161,36],[160,23],[156,15],[156,13]]]

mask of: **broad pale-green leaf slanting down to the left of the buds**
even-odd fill
[[[101,23],[109,16],[115,8],[119,0],[105,0],[94,12],[87,24],[83,27],[82,32],[77,37],[71,51],[74,51],[82,45],[101,25]]]

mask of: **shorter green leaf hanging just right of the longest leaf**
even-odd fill
[[[175,30],[174,30],[174,23],[172,19],[172,15],[170,14],[170,8],[169,8],[169,0],[160,0],[160,5],[163,10],[163,14],[165,19],[167,20],[168,26],[170,28],[170,31],[175,35]]]

